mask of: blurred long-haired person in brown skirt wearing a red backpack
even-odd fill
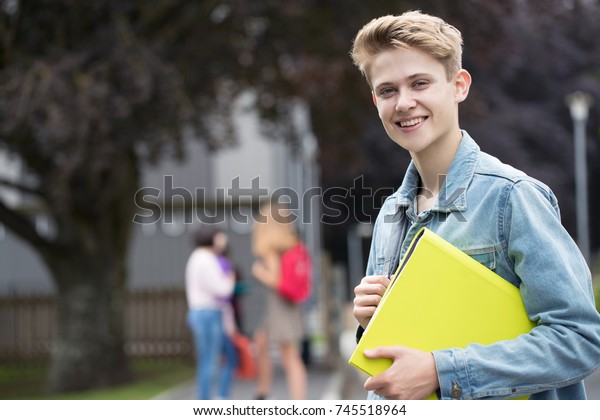
[[[257,399],[267,398],[273,364],[271,345],[278,347],[291,399],[306,398],[306,367],[299,351],[304,337],[302,302],[311,291],[311,260],[295,233],[291,214],[280,204],[261,207],[253,234],[257,260],[252,274],[267,287],[266,310],[254,339],[258,350]]]

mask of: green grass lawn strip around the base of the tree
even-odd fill
[[[147,400],[194,377],[195,367],[182,360],[137,361],[136,380],[93,391],[49,396],[45,393],[47,364],[0,364],[0,399],[55,400]]]

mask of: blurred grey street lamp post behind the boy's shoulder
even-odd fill
[[[587,196],[587,149],[585,128],[589,108],[592,105],[590,95],[581,91],[566,97],[571,111],[575,136],[575,207],[577,215],[577,242],[585,260],[590,263],[590,232],[588,220]]]

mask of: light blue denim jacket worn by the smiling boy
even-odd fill
[[[418,186],[411,162],[375,222],[367,275],[389,274],[428,227],[517,286],[537,323],[512,340],[434,351],[441,398],[585,399],[583,378],[600,364],[600,315],[552,191],[481,152],[465,131],[436,203],[417,215]]]

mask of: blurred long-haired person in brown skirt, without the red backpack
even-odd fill
[[[285,370],[291,399],[306,398],[306,367],[299,351],[304,336],[302,308],[299,303],[278,293],[281,281],[281,256],[293,248],[299,238],[291,221],[291,213],[279,203],[261,206],[253,232],[253,252],[257,260],[252,274],[267,287],[266,310],[254,335],[258,352],[257,399],[266,399],[271,388],[273,362],[269,349],[277,346]]]

